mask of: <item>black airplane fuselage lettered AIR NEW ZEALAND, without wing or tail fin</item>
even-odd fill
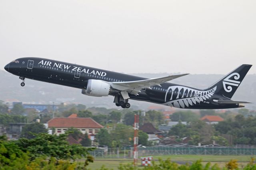
[[[139,81],[147,78],[65,63],[51,59],[24,57],[10,62],[6,71],[19,77],[86,89],[89,79],[106,82]],[[150,89],[151,88],[151,89]],[[241,107],[239,104],[220,105],[213,100],[230,100],[215,94],[217,87],[202,90],[173,83],[162,83],[149,89],[142,89],[138,95],[129,94],[129,99],[147,101],[186,109],[227,109]],[[115,96],[114,89],[109,95]]]

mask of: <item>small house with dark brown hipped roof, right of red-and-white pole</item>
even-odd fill
[[[142,125],[142,127],[139,128],[140,130],[142,130],[143,132],[148,134],[148,140],[157,140],[157,142],[159,142],[159,138],[158,138],[158,134],[161,134],[163,132],[161,132],[160,130],[156,129],[152,123],[144,123],[144,125]]]

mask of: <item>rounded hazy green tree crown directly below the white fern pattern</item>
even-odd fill
[[[170,119],[174,122],[191,122],[199,119],[199,116],[192,111],[178,111],[170,115]]]

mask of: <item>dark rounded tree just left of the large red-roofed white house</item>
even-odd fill
[[[45,128],[44,124],[36,122],[25,125],[22,128],[21,137],[32,139],[35,137],[35,134],[47,132],[48,130]]]

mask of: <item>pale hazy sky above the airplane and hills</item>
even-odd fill
[[[255,0],[0,0],[0,69],[44,57],[124,73],[256,73]]]

